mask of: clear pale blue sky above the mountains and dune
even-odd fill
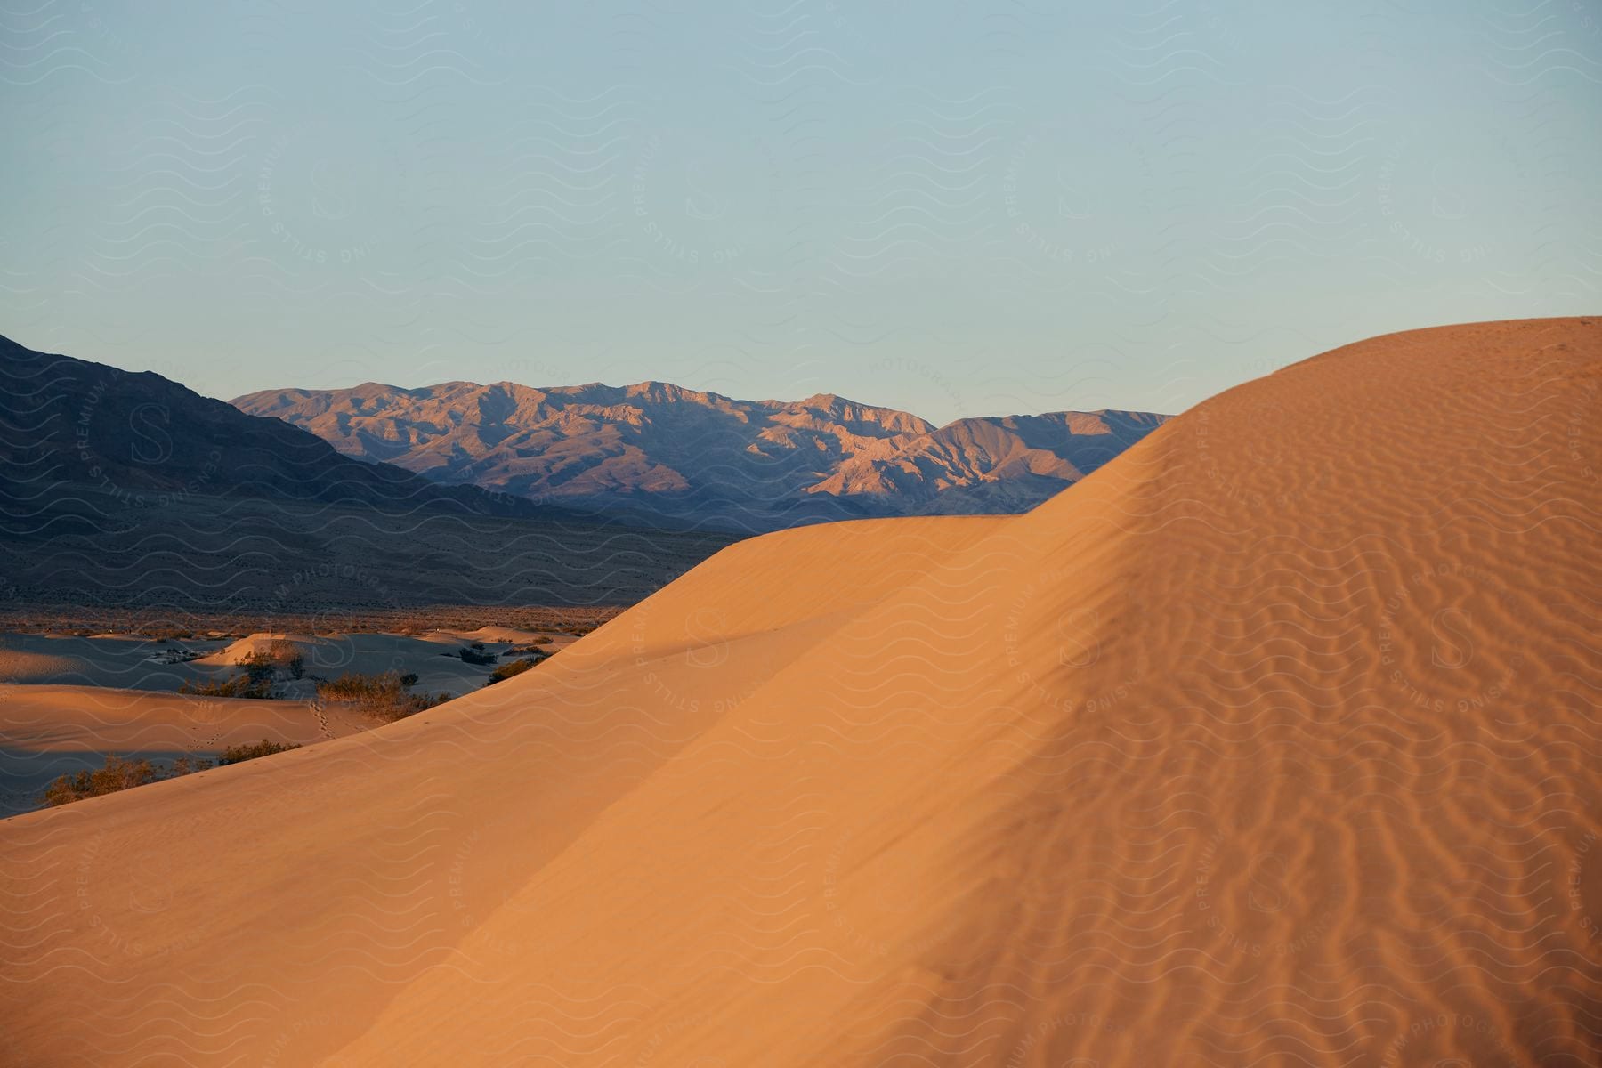
[[[1176,412],[1602,311],[1596,0],[38,3],[0,331],[219,397]]]

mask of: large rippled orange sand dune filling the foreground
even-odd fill
[[[1597,320],[1376,338],[1027,516],[742,543],[410,721],[3,821],[0,1026],[62,1065],[1594,1063],[1599,391]]]

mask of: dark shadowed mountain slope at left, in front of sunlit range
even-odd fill
[[[160,375],[0,338],[0,604],[631,604],[731,540],[439,485]]]

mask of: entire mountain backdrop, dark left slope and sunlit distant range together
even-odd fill
[[[0,338],[0,604],[631,604],[743,533],[1028,511],[1161,420],[934,428],[827,394],[750,402],[666,383],[224,404]]]

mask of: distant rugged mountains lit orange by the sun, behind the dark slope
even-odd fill
[[[671,383],[453,381],[235,397],[348,456],[444,484],[652,522],[763,532],[815,520],[1024,512],[1157,429],[1145,412],[936,428],[835,394],[737,400]]]

